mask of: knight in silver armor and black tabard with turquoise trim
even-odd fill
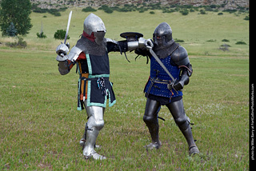
[[[70,50],[69,44],[57,47],[58,71],[65,75],[72,67],[78,66],[78,110],[86,109],[87,119],[85,133],[80,141],[86,159],[106,159],[95,151],[98,133],[104,126],[104,110],[115,104],[116,99],[112,82],[110,82],[110,63],[108,53],[126,52],[137,48],[146,48],[150,39],[134,39],[116,42],[105,38],[106,27],[102,19],[90,14],[84,21],[82,37]]]

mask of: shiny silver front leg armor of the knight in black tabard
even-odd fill
[[[94,159],[104,159],[104,157],[94,150],[98,133],[104,126],[104,108],[98,106],[86,106],[86,113],[89,119],[86,123],[86,143],[82,153],[86,158],[94,157]]]

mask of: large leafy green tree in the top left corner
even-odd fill
[[[2,35],[8,35],[7,30],[13,22],[15,33],[25,35],[32,27],[30,0],[2,0],[0,2],[0,27]]]

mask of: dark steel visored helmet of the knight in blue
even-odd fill
[[[174,42],[172,36],[172,30],[166,22],[162,22],[155,28],[153,34],[154,45],[158,47],[164,47]]]

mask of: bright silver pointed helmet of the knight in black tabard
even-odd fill
[[[88,15],[85,22],[83,22],[83,30],[86,32],[86,34],[94,34],[95,42],[98,45],[102,44],[106,34],[106,27],[102,19],[97,15],[92,13]]]

